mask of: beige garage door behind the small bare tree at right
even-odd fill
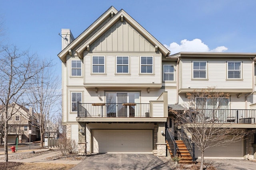
[[[225,147],[211,147],[205,150],[205,158],[242,158],[243,157],[243,143],[244,141],[238,141],[235,143],[230,143]],[[201,153],[198,149],[197,156],[201,157]]]

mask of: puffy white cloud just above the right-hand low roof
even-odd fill
[[[180,41],[180,45],[177,43],[170,43],[170,45],[164,46],[171,51],[171,54],[179,53],[179,52],[224,52],[228,50],[227,47],[220,46],[215,49],[209,49],[208,45],[204,44],[200,39],[193,39],[189,41],[187,39],[183,39]]]

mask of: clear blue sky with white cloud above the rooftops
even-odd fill
[[[110,6],[124,9],[173,53],[256,52],[255,0],[2,0],[5,43],[52,59],[62,28],[77,37]]]

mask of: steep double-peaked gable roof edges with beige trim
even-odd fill
[[[110,7],[109,10],[107,10],[102,16],[108,16],[111,11],[115,10],[114,7]],[[115,11],[116,12],[116,11]],[[89,35],[92,31],[94,26],[99,25],[103,22],[103,17],[100,17],[98,20],[96,20],[88,29],[86,29],[81,35],[78,36],[70,45],[68,45],[62,52],[58,54],[58,57],[63,62],[66,62],[66,55],[68,54],[69,49],[74,49],[79,43],[82,42],[82,40],[86,39],[86,35]],[[106,19],[106,17],[105,17]],[[87,51],[87,48],[90,47],[90,45],[96,41],[103,33],[105,33],[112,25],[114,25],[119,20],[126,20],[127,23],[132,25],[134,29],[136,29],[140,34],[142,34],[150,43],[155,45],[155,47],[158,48],[158,50],[162,53],[164,57],[168,56],[170,54],[170,51],[164,47],[156,38],[154,38],[146,29],[144,29],[138,22],[136,22],[131,16],[129,16],[124,10],[120,10],[117,12],[105,25],[103,25],[98,31],[94,33],[90,38],[88,38],[85,42],[83,42],[78,48],[76,49],[76,54],[80,59],[83,58],[83,52]],[[98,23],[98,24],[96,24]],[[90,33],[89,33],[90,32]]]

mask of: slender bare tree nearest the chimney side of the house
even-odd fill
[[[46,132],[46,126],[53,116],[52,113],[56,112],[56,105],[60,99],[60,83],[58,77],[54,76],[53,66],[50,62],[41,61],[40,64],[43,69],[31,79],[31,92],[30,103],[36,112],[35,117],[38,121],[38,127],[40,129],[41,142],[43,147],[44,133]]]

